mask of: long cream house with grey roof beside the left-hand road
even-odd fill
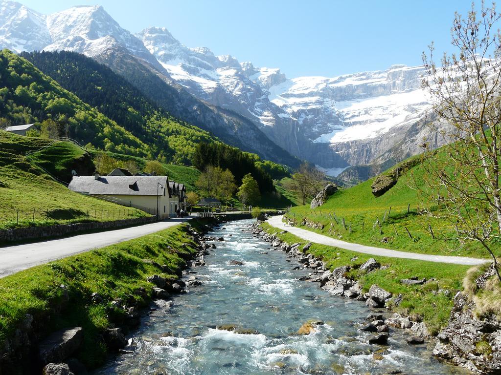
[[[185,198],[174,195],[167,176],[124,176],[98,173],[92,176],[73,176],[70,190],[89,194],[111,202],[134,207],[158,215],[159,218],[175,216]]]

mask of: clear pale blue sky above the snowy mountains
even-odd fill
[[[42,13],[101,4],[132,32],[164,26],[189,47],[207,46],[289,77],[335,76],[418,65],[430,41],[450,50],[454,11],[468,0],[19,0]]]

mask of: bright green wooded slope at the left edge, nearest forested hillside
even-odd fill
[[[153,156],[147,144],[130,131],[7,49],[0,51],[0,117],[4,118],[1,127],[57,119],[64,132],[80,143]]]

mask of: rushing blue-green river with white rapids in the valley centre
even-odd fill
[[[145,316],[132,335],[133,352],[113,358],[96,373],[466,373],[435,359],[426,345],[408,345],[398,329],[390,328],[387,346],[367,344],[371,334],[357,330],[371,312],[365,304],[298,280],[308,270],[293,270],[299,264],[295,258],[241,231],[251,223],[234,221],[208,233],[225,241],[216,242],[205,266],[191,270],[202,285],[175,296],[172,307]],[[309,335],[295,334],[310,319],[325,323]],[[259,333],[215,329],[220,324]]]

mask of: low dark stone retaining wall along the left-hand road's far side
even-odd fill
[[[89,221],[73,224],[58,224],[48,226],[27,226],[22,228],[0,230],[0,244],[16,242],[25,239],[38,239],[46,237],[61,237],[68,234],[101,230],[115,229],[124,226],[147,224],[156,221],[155,216],[137,217],[133,219],[113,220],[113,221]]]

